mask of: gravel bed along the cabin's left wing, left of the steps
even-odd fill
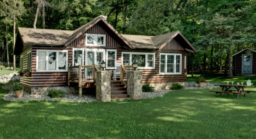
[[[23,97],[16,98],[15,92],[12,90],[14,84],[8,84],[5,86],[2,86],[4,89],[9,89],[10,92],[6,94],[3,98],[7,101],[67,101],[67,102],[93,102],[96,101],[94,96],[92,95],[83,95],[82,98],[79,98],[78,94],[66,94],[62,98],[51,98],[50,96],[47,96],[47,94],[41,94],[41,95],[30,95],[27,92],[23,91]]]

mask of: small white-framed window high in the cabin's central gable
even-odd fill
[[[86,33],[85,45],[86,46],[106,46],[106,35]]]

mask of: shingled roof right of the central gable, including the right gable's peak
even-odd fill
[[[127,35],[122,34],[122,36],[132,44],[134,48],[149,48],[149,49],[159,49],[161,50],[170,40],[180,35],[185,43],[187,43],[192,51],[196,52],[195,48],[189,43],[189,41],[180,33],[180,31],[175,31],[171,33],[165,33],[157,36],[145,36],[145,35]]]

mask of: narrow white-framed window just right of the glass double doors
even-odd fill
[[[117,50],[106,50],[106,69],[114,69],[117,63]]]

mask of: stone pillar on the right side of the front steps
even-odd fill
[[[131,99],[142,98],[142,71],[127,71],[127,94]]]

